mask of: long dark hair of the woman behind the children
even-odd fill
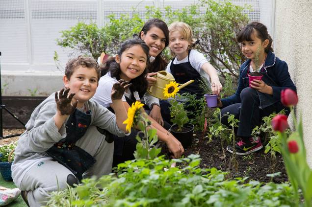
[[[169,45],[168,26],[164,21],[157,19],[157,18],[151,19],[143,25],[143,28],[139,32],[139,38],[141,38],[141,32],[143,32],[146,35],[146,33],[154,26],[161,29],[161,31],[164,33],[165,38],[166,38],[165,47],[168,46]],[[166,68],[167,62],[161,57],[162,51],[155,57],[155,60],[152,63],[149,63],[147,65],[147,69],[149,70],[149,72],[157,72],[160,70],[164,70]]]

